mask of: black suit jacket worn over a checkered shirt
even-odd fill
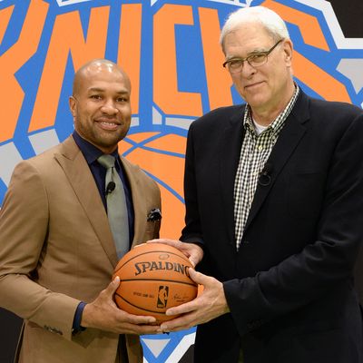
[[[186,227],[231,313],[197,329],[195,363],[363,362],[353,269],[363,240],[363,113],[300,93],[258,185],[237,251],[233,185],[244,106],[191,124]]]

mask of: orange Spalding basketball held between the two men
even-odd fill
[[[165,311],[195,299],[198,286],[189,277],[191,262],[172,246],[144,243],[126,253],[113,273],[120,277],[114,294],[117,306],[134,315],[174,319]]]

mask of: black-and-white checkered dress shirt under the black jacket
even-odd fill
[[[255,131],[250,106],[246,105],[243,117],[245,135],[240,149],[240,164],[234,181],[234,225],[237,250],[240,248],[240,241],[250,213],[250,206],[257,188],[260,172],[262,172],[270,156],[273,145],[278,140],[279,133],[298,95],[299,87],[295,85],[295,93],[288,105],[260,135]]]

